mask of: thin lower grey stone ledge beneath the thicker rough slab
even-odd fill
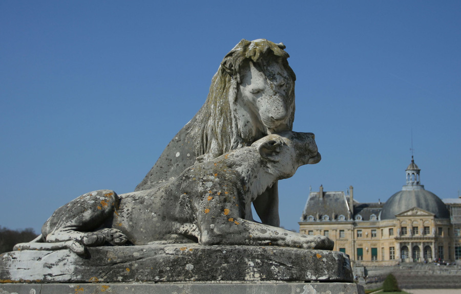
[[[365,294],[354,283],[155,283],[155,284],[0,284],[2,294]]]

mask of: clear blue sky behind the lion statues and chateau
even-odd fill
[[[93,190],[133,191],[242,38],[283,42],[294,130],[322,161],[279,183],[299,229],[309,187],[387,200],[411,160],[461,190],[460,1],[2,1],[0,225],[41,225]]]

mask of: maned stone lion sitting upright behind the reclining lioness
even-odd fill
[[[282,43],[241,40],[221,62],[205,104],[166,146],[135,191],[147,190],[197,162],[210,161],[267,134],[291,130],[295,73]],[[279,226],[277,183],[254,202],[263,223]]]

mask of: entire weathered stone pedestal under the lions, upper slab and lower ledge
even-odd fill
[[[16,251],[0,255],[0,293],[344,293],[347,255],[288,247],[197,244]]]

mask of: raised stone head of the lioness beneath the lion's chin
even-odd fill
[[[267,135],[252,146],[277,172],[278,179],[291,177],[300,166],[321,160],[313,133],[279,132]]]

